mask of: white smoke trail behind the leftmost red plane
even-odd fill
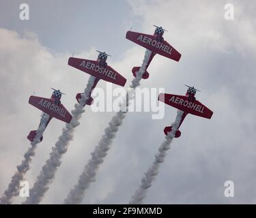
[[[44,114],[44,116],[42,116],[40,122],[41,125],[38,127],[38,130],[36,131],[36,135],[33,139],[33,142],[30,143],[31,147],[29,147],[29,149],[23,156],[25,159],[23,159],[22,163],[19,166],[17,166],[18,172],[16,172],[14,176],[12,176],[12,180],[8,185],[8,189],[4,191],[3,196],[0,199],[0,204],[11,204],[10,200],[14,196],[18,196],[18,190],[20,189],[20,181],[24,180],[24,175],[30,168],[29,163],[31,163],[31,159],[35,155],[36,145],[41,142],[40,138],[44,132],[48,118],[48,114]]]

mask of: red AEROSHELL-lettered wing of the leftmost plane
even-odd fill
[[[60,121],[70,123],[72,119],[72,115],[68,112],[68,110],[62,104],[55,104],[53,99],[38,97],[38,96],[30,96],[29,104],[35,106],[39,110],[42,110],[46,114],[59,119]]]

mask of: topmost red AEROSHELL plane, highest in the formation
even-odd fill
[[[148,50],[152,51],[150,60],[148,61],[146,70],[142,76],[143,79],[147,79],[150,76],[150,74],[147,72],[147,67],[150,65],[150,62],[152,61],[156,54],[162,55],[174,61],[180,61],[180,57],[182,56],[180,55],[179,52],[177,52],[177,50],[175,50],[175,48],[173,48],[173,46],[166,42],[162,37],[166,30],[162,29],[162,27],[157,27],[155,25],[154,27],[156,27],[154,35],[136,33],[133,31],[128,31],[126,33],[126,39],[135,42],[136,44],[139,44],[140,46],[143,46],[144,48],[147,48]],[[132,74],[134,77],[136,77],[139,68],[140,67],[132,68]]]

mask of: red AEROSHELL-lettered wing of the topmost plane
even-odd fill
[[[157,42],[154,35],[147,35],[144,33],[128,31],[126,33],[126,39],[174,61],[180,61],[180,57],[182,56],[179,52],[177,52],[177,50],[175,50],[175,48],[173,48],[173,46],[171,46],[165,40],[164,42]]]

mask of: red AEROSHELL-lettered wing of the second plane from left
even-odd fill
[[[119,84],[122,87],[126,84],[126,78],[124,78],[124,76],[116,72],[115,69],[109,65],[106,67],[100,67],[98,61],[70,57],[68,59],[68,65],[75,67],[76,69],[80,69],[91,76],[95,76],[96,78],[100,78],[114,84]]]

